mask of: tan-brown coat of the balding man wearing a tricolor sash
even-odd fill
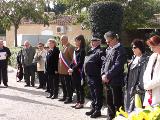
[[[74,47],[70,43],[68,43],[66,47],[64,47],[61,50],[61,52],[65,60],[70,65],[72,62],[72,58],[73,58]],[[59,62],[58,62],[58,73],[62,75],[68,75],[68,68],[62,63],[61,59],[59,59]]]

